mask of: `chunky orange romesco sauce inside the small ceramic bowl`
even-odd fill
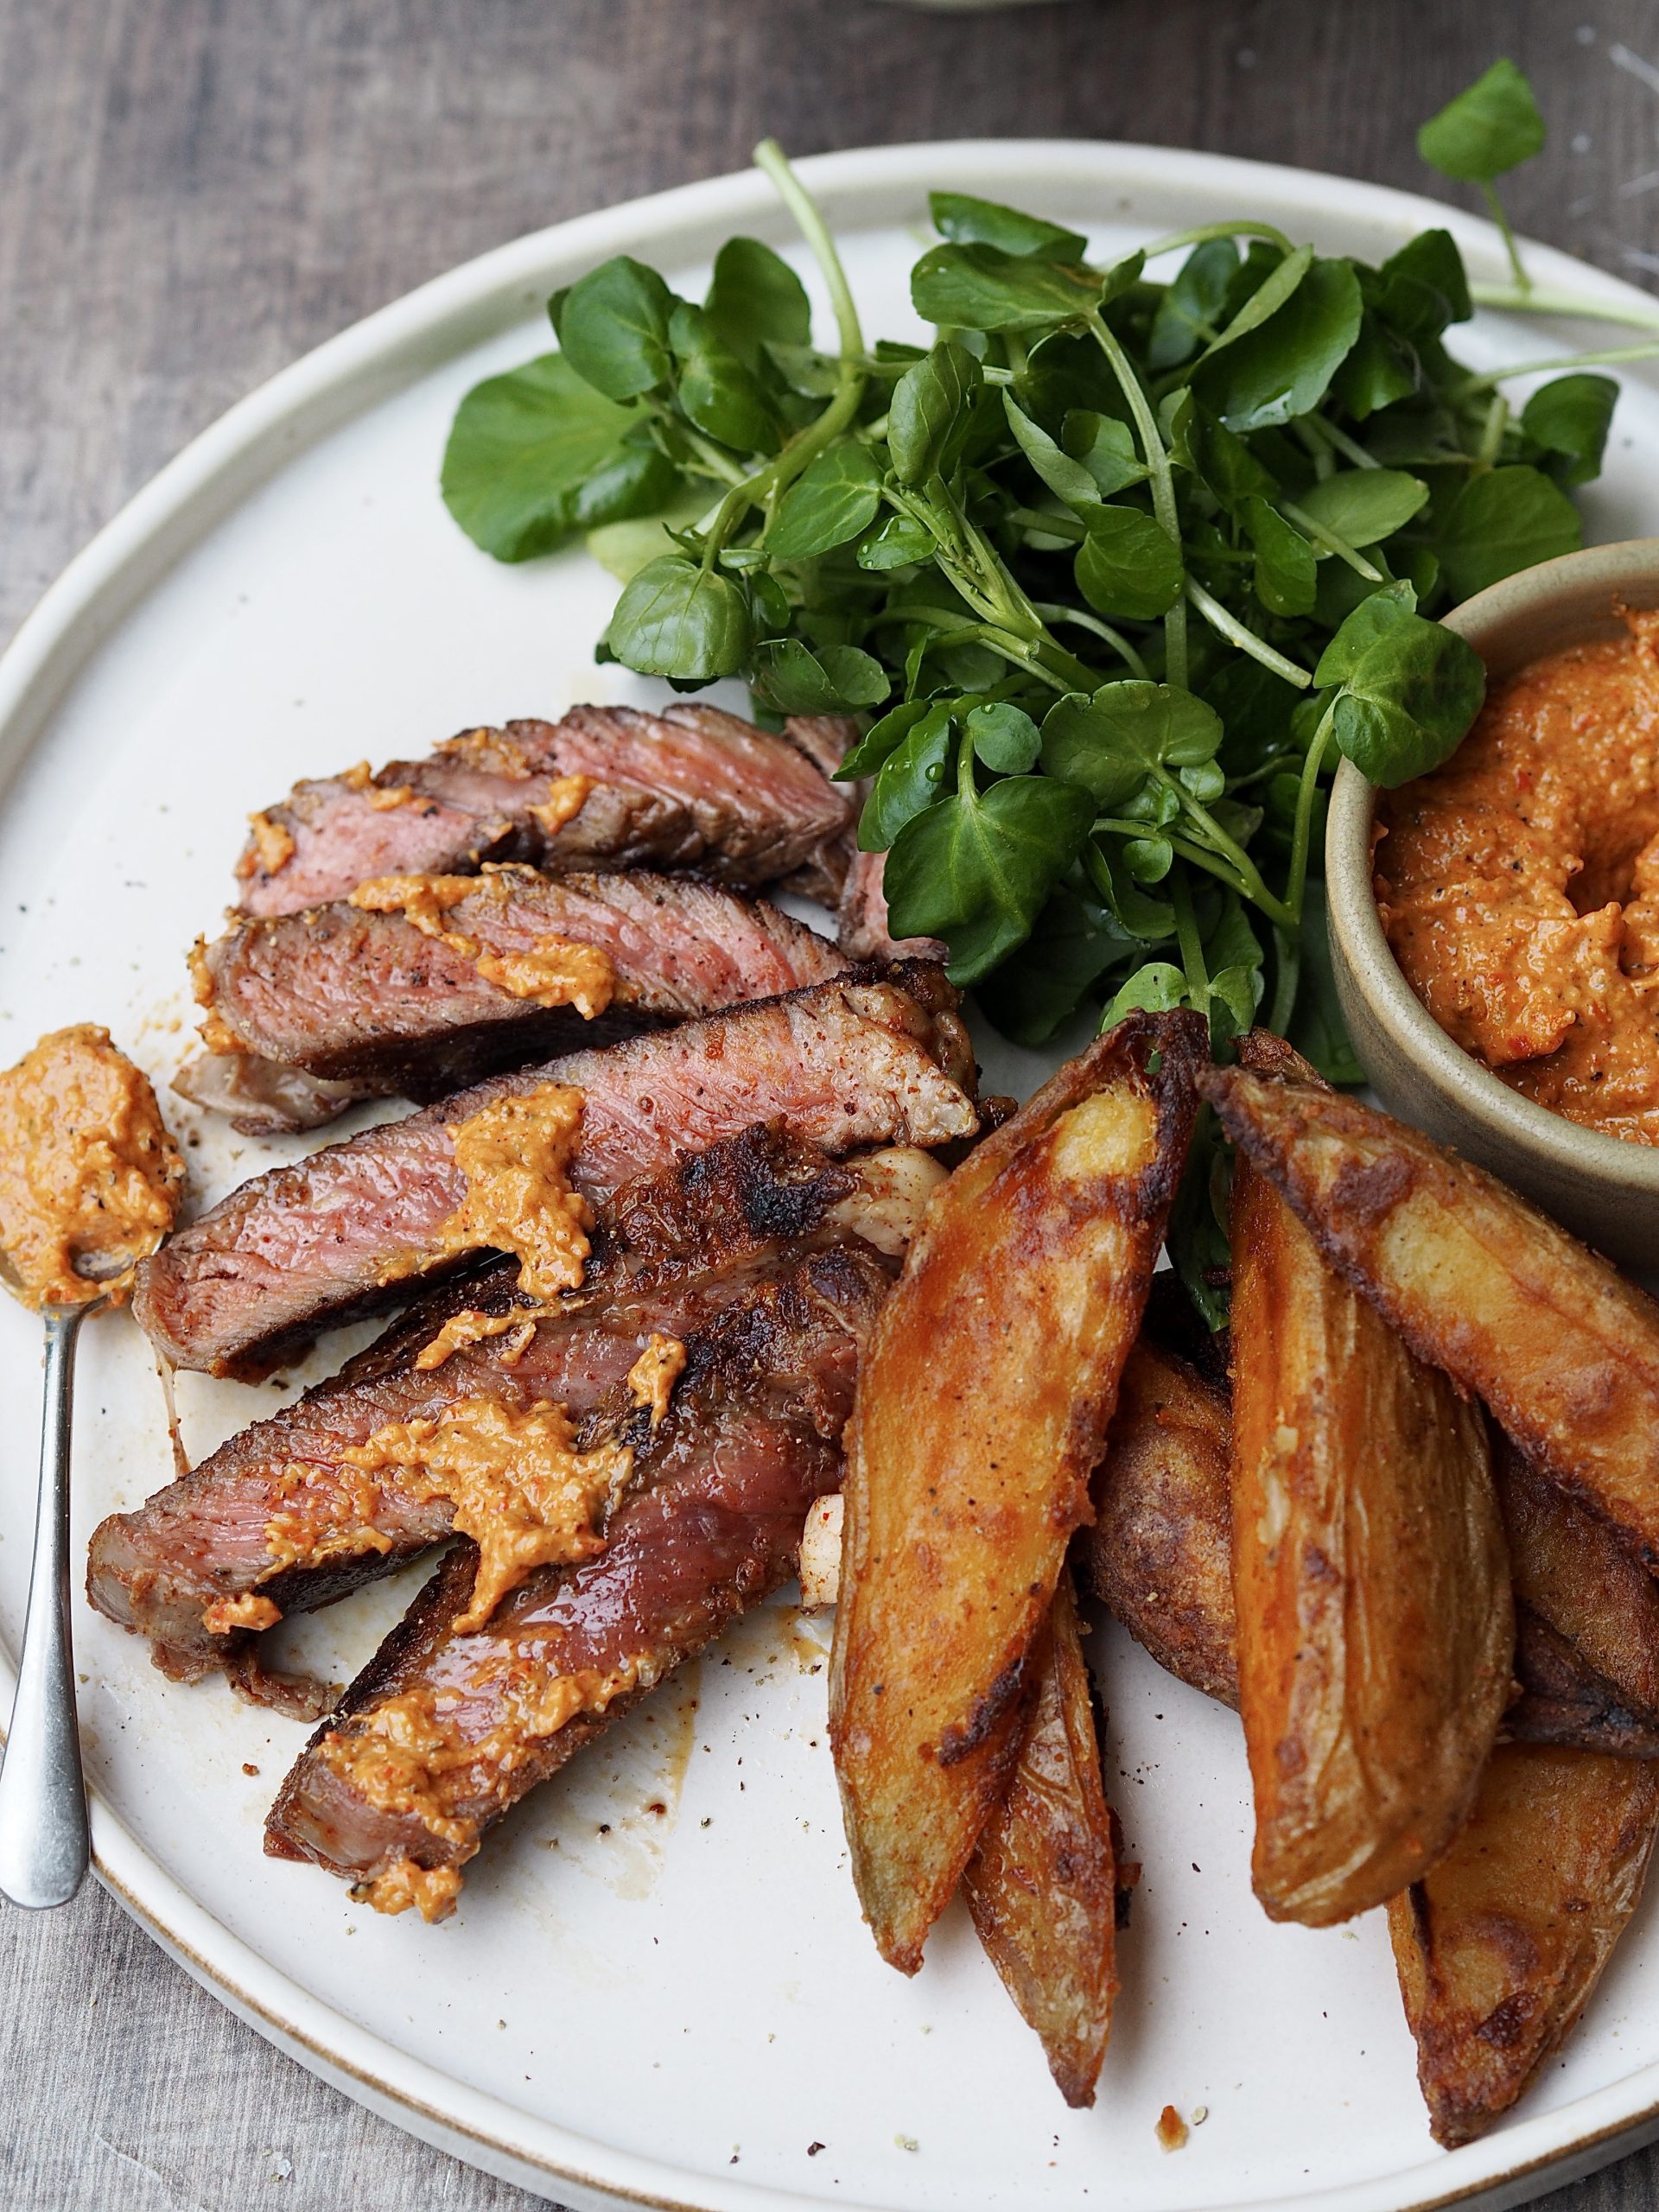
[[[1385,792],[1374,889],[1407,982],[1493,1073],[1659,1144],[1659,613],[1533,661]]]

